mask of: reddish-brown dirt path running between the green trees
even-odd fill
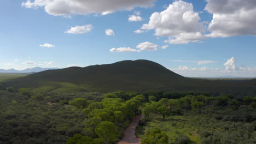
[[[141,118],[142,114],[132,118],[129,127],[126,128],[124,131],[123,139],[121,139],[118,144],[141,144],[141,140],[135,136],[135,130],[138,125],[139,119]]]

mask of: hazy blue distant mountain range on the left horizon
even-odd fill
[[[59,69],[59,68],[40,68],[40,67],[34,67],[31,69],[24,69],[24,70],[16,70],[16,69],[0,69],[0,73],[38,73],[45,70],[53,70],[53,69]]]

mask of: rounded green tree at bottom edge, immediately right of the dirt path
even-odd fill
[[[161,131],[159,128],[153,128],[146,133],[142,139],[142,144],[167,144],[168,136],[165,131]]]

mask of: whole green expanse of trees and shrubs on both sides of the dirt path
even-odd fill
[[[116,143],[143,114],[143,144],[256,142],[256,98],[207,92],[0,91],[0,143]]]

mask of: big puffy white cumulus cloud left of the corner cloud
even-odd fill
[[[175,1],[169,7],[155,12],[150,16],[147,24],[142,29],[154,29],[155,35],[167,36],[166,43],[188,44],[205,39],[202,32],[205,32],[203,22],[199,13],[193,10],[193,4],[184,1]]]

